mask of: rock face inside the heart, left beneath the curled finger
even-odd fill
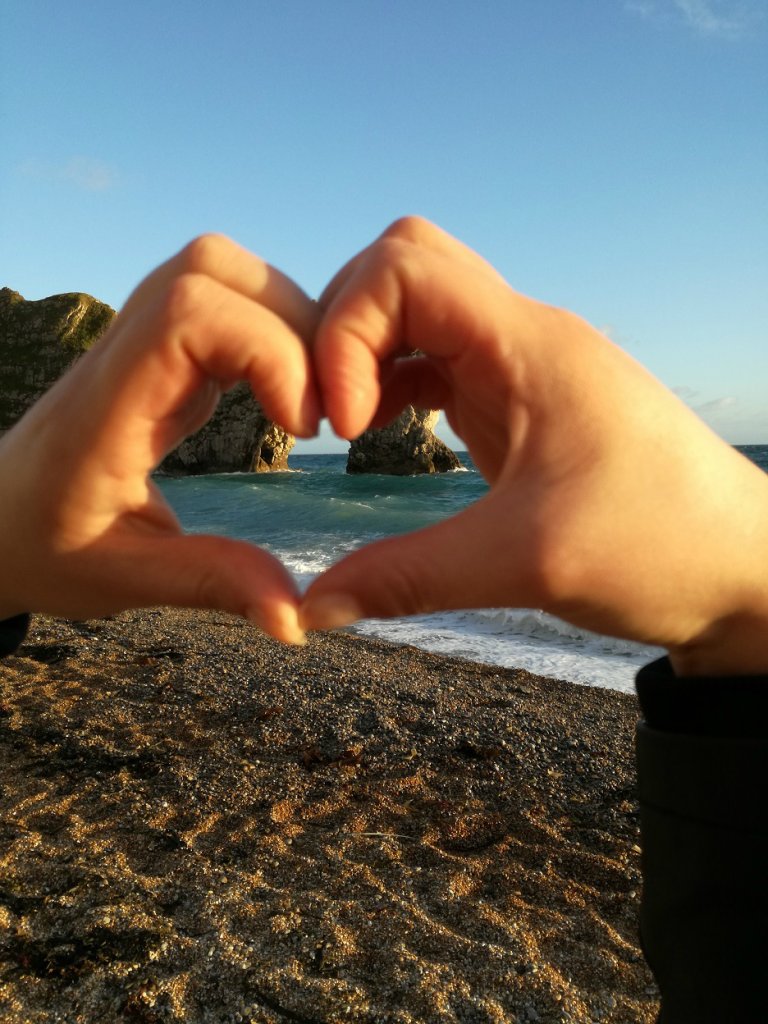
[[[296,438],[264,416],[246,382],[222,395],[216,412],[196,434],[161,463],[174,476],[199,473],[268,473],[288,469]]]

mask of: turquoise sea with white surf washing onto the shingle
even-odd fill
[[[768,472],[768,444],[738,451]],[[371,541],[428,526],[487,492],[467,453],[464,468],[423,476],[348,475],[346,455],[292,455],[291,471],[158,478],[189,532],[222,534],[266,548],[303,589]],[[537,608],[479,608],[368,620],[351,632],[455,657],[526,669],[632,692],[640,666],[662,651],[599,636]]]

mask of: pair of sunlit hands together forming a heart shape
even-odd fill
[[[323,415],[353,437],[443,409],[489,494],[355,552],[302,603],[265,551],[184,536],[151,478],[239,380],[302,437]],[[683,674],[768,669],[768,476],[588,324],[418,218],[318,303],[224,238],[190,243],[0,439],[0,617],[175,604],[301,642],[364,615],[532,606],[666,646]]]

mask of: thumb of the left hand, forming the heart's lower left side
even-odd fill
[[[286,643],[303,643],[299,592],[286,567],[261,548],[207,535],[144,541],[129,558],[131,605],[220,608],[241,615]],[[140,577],[137,577],[136,566]]]

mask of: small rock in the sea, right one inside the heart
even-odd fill
[[[367,430],[349,447],[347,473],[413,476],[459,469],[456,454],[434,433],[439,415],[409,406],[388,426]]]

